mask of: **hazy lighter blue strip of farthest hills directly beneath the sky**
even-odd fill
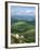
[[[14,20],[25,20],[25,21],[32,21],[35,18],[35,15],[14,15],[11,16]]]

